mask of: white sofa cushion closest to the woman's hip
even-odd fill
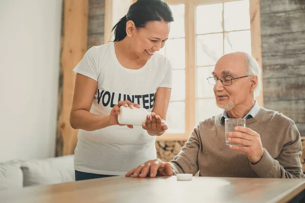
[[[50,185],[75,181],[73,155],[24,161],[23,186]]]

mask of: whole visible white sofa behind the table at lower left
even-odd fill
[[[74,155],[0,162],[0,191],[33,185],[75,181]]]

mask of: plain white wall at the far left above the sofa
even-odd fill
[[[0,162],[53,157],[62,0],[0,0]]]

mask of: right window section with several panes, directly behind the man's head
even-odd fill
[[[226,53],[251,54],[249,0],[196,6],[196,123],[223,110],[215,103],[211,76]]]

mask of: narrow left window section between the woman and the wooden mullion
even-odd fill
[[[160,53],[173,65],[173,85],[167,122],[171,126],[167,134],[186,133],[186,42],[185,42],[185,5],[170,5],[175,21],[171,23],[169,39]]]

